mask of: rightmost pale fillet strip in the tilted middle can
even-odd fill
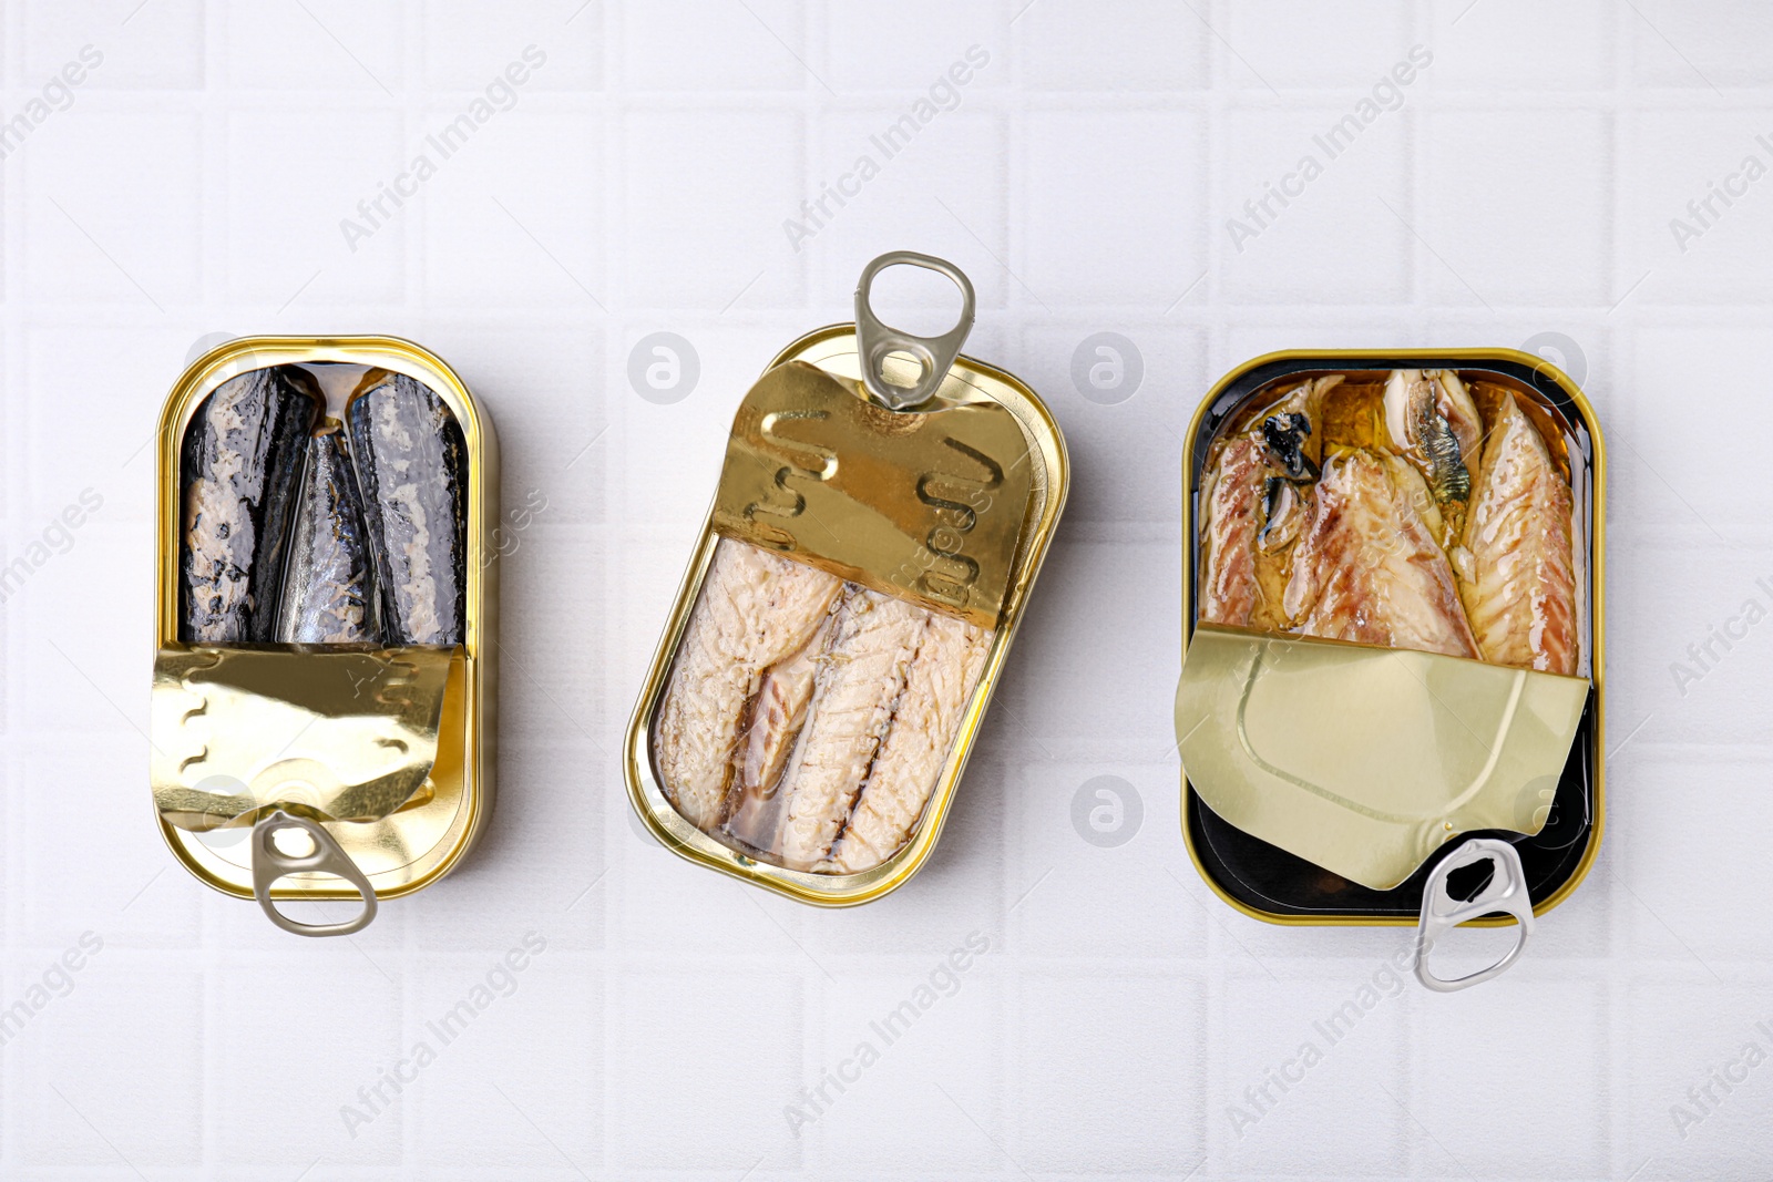
[[[892,727],[879,744],[849,824],[832,858],[816,870],[872,870],[906,844],[949,762],[989,649],[989,631],[954,617],[929,615]]]

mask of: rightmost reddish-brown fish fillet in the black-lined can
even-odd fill
[[[1459,595],[1486,661],[1550,673],[1578,663],[1571,491],[1539,429],[1507,395],[1464,523]]]

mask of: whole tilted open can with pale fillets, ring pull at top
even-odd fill
[[[959,287],[954,330],[874,317],[894,264]],[[1069,478],[1041,399],[959,354],[972,319],[952,264],[883,255],[856,323],[739,404],[624,744],[635,812],[690,861],[840,907],[934,849]]]

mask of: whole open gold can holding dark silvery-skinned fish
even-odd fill
[[[278,927],[355,932],[491,815],[493,424],[411,342],[243,337],[172,386],[158,455],[160,833]]]

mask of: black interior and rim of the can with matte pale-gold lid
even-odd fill
[[[1342,362],[1342,363],[1339,363]],[[1599,629],[1594,622],[1596,556],[1594,556],[1594,466],[1596,443],[1583,409],[1569,397],[1558,381],[1544,369],[1535,369],[1507,358],[1445,358],[1433,356],[1360,356],[1360,358],[1312,358],[1289,356],[1250,367],[1234,377],[1215,397],[1202,413],[1199,429],[1190,441],[1188,454],[1188,496],[1191,537],[1184,546],[1188,581],[1188,634],[1195,631],[1195,606],[1199,603],[1199,562],[1200,562],[1200,477],[1206,470],[1213,443],[1227,429],[1239,425],[1239,418],[1252,406],[1271,400],[1278,390],[1277,383],[1293,383],[1317,374],[1347,374],[1347,381],[1385,381],[1392,369],[1452,369],[1466,381],[1488,381],[1507,386],[1514,393],[1532,402],[1528,415],[1541,429],[1553,425],[1564,432],[1566,455],[1558,455],[1555,439],[1548,439],[1555,457],[1564,461],[1574,475],[1576,507],[1583,512],[1580,526],[1589,539],[1589,599],[1587,599],[1587,634],[1583,652],[1592,654]],[[1534,413],[1539,411],[1539,413]],[[1303,858],[1250,836],[1243,829],[1222,820],[1202,803],[1193,785],[1186,785],[1184,829],[1190,849],[1200,865],[1202,874],[1229,898],[1250,911],[1277,920],[1319,920],[1319,921],[1413,921],[1422,911],[1422,888],[1429,874],[1441,858],[1449,856],[1466,838],[1495,836],[1514,845],[1521,856],[1521,868],[1527,872],[1527,886],[1532,898],[1543,902],[1560,895],[1580,879],[1587,865],[1589,847],[1596,842],[1597,819],[1597,766],[1596,732],[1599,704],[1590,680],[1589,702],[1583,707],[1576,739],[1571,744],[1569,760],[1558,780],[1551,801],[1551,812],[1544,828],[1527,836],[1505,831],[1461,833],[1441,851],[1417,868],[1404,883],[1388,891],[1376,891],[1358,883],[1324,870]],[[1454,875],[1452,888],[1461,895],[1475,895],[1488,881],[1480,867],[1468,883],[1459,883]],[[1464,888],[1464,890],[1459,890]]]

